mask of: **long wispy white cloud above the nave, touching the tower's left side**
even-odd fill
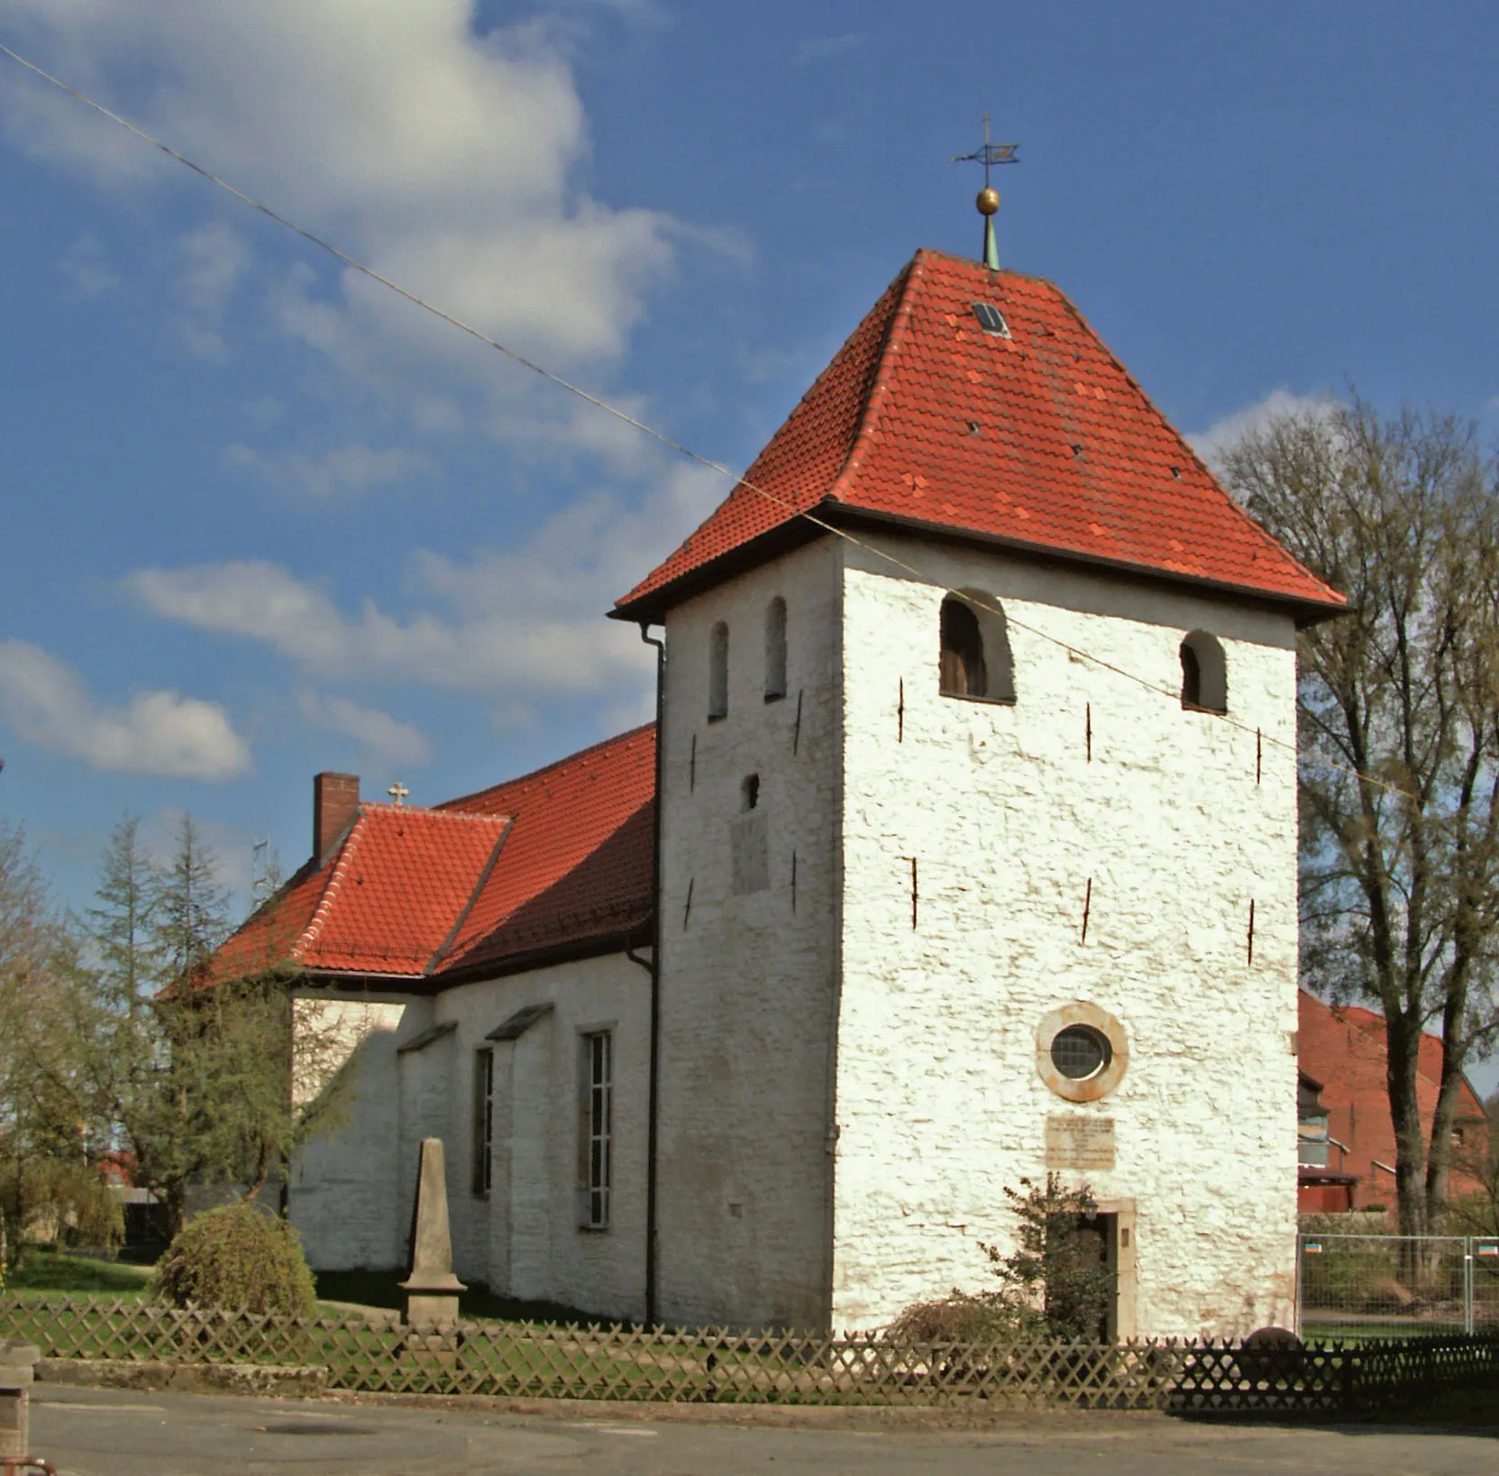
[[[651,652],[604,610],[723,494],[723,478],[679,468],[639,508],[583,500],[511,549],[465,562],[417,550],[403,615],[373,597],[348,612],[322,584],[253,560],[145,568],[126,588],[156,615],[259,640],[322,680],[436,686],[510,706],[619,694],[649,674]]]

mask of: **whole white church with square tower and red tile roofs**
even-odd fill
[[[1340,596],[1051,282],[922,250],[616,604],[658,722],[432,808],[315,782],[214,962],[295,975],[343,1120],[313,1266],[872,1329],[1099,1202],[1109,1334],[1291,1323],[1295,633]],[[319,1071],[295,1071],[303,1095]]]

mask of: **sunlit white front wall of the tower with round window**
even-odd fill
[[[941,590],[848,555],[833,1320],[880,1324],[991,1286],[979,1240],[1012,1234],[1004,1186],[1045,1174],[1048,1113],[1078,1113],[1115,1122],[1115,1168],[1064,1178],[1136,1204],[1138,1332],[1285,1323],[1297,801],[1294,756],[1268,740],[1295,735],[1291,621],[998,555],[905,552],[1003,600],[1018,702],[940,696]],[[1181,710],[1178,644],[1195,627],[1222,639],[1249,732]],[[1073,999],[1117,1016],[1130,1042],[1118,1089],[1087,1106],[1036,1071],[1040,1016]]]

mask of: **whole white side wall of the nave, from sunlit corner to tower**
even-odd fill
[[[454,1269],[465,1281],[609,1317],[645,1312],[651,980],[624,954],[438,996],[297,1000],[298,1038],[351,1062],[352,1090],[300,1155],[291,1218],[318,1270],[402,1268],[424,1137],[447,1146]],[[552,1004],[516,1041],[486,1036],[523,1005]],[[402,1052],[432,1026],[453,1030]],[[577,1214],[579,1038],[613,1034],[613,1174],[607,1230]],[[474,1192],[475,1053],[495,1050],[492,1185]],[[319,1084],[304,1044],[294,1076]]]

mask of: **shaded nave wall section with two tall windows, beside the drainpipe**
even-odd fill
[[[525,1005],[552,1004],[516,1041],[486,1041]],[[646,1114],[651,976],[622,952],[448,988],[454,1022],[448,1110],[448,1216],[460,1280],[525,1300],[609,1317],[645,1314]],[[613,1168],[607,1230],[577,1216],[579,1036],[613,1032]],[[474,1194],[475,1053],[495,1050],[492,1184]],[[433,1050],[435,1047],[429,1047]]]

